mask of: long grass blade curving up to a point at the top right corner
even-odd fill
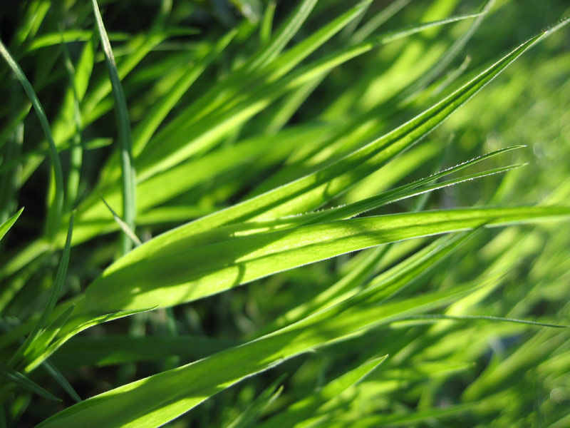
[[[549,31],[532,37],[509,54],[499,59],[460,89],[435,104],[427,111],[404,123],[399,128],[379,138],[358,151],[346,156],[326,168],[311,173],[255,198],[208,215],[192,223],[164,233],[141,245],[127,257],[118,260],[111,269],[118,268],[135,260],[141,260],[160,252],[161,248],[182,240],[187,236],[217,228],[228,223],[245,220],[279,218],[283,215],[303,213],[313,210],[335,198],[394,158],[398,153],[413,146],[430,131],[440,125],[450,114],[492,81],[504,68],[516,60],[531,46],[537,44],[551,32],[568,23],[561,21]]]

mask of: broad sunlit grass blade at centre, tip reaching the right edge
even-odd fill
[[[564,218],[570,208],[522,207],[427,211],[353,218],[244,237],[180,246],[108,270],[86,290],[78,312],[103,313],[171,306],[212,295],[282,270],[355,250],[440,233]],[[131,286],[128,286],[131,284]]]

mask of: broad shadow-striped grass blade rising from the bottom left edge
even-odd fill
[[[465,295],[469,288],[420,295],[379,307],[333,307],[294,325],[199,362],[155,374],[68,407],[38,427],[155,427],[208,397],[327,342],[394,317],[420,313]],[[144,403],[144,406],[141,406]]]

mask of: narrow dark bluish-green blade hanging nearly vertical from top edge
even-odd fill
[[[128,225],[130,230],[135,230],[136,218],[136,178],[135,168],[133,165],[133,141],[130,136],[130,120],[127,109],[127,101],[123,93],[123,86],[120,83],[117,66],[115,64],[115,57],[111,49],[110,41],[103,25],[103,19],[99,12],[97,0],[93,0],[93,12],[95,14],[95,21],[105,52],[105,62],[109,71],[111,86],[113,87],[113,98],[115,98],[115,111],[117,113],[117,128],[120,141],[120,165],[121,165],[121,183],[123,190],[123,220]],[[125,233],[121,234],[121,250],[123,253],[128,253],[132,248],[132,242],[129,236]]]

